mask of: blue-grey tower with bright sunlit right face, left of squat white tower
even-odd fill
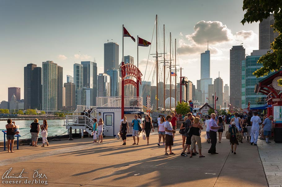
[[[92,88],[91,106],[96,106],[97,97],[97,64],[91,61],[82,61],[83,65],[83,87]]]

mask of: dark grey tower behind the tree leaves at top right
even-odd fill
[[[270,14],[267,19],[263,19],[262,22],[259,23],[259,50],[270,49],[270,44],[279,35],[278,32],[274,33],[271,27],[274,22],[274,14]]]

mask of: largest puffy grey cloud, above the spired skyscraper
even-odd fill
[[[220,21],[200,21],[194,26],[194,32],[186,38],[196,44],[217,44],[232,39],[231,30]]]

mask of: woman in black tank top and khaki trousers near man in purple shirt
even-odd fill
[[[190,158],[193,156],[193,149],[196,148],[196,142],[199,149],[199,157],[205,157],[202,155],[202,143],[201,143],[201,137],[200,137],[200,129],[203,129],[203,127],[199,124],[200,118],[196,117],[194,118],[194,123],[190,127],[190,135],[191,137],[191,147],[190,147]]]

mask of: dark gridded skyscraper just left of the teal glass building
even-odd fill
[[[245,60],[245,48],[242,45],[230,49],[230,104],[241,108],[242,60]]]

